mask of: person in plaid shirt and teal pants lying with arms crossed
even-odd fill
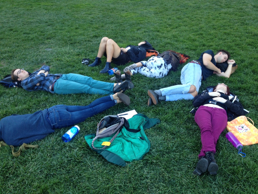
[[[29,75],[24,69],[13,69],[11,77],[15,81],[21,81],[21,86],[27,91],[44,90],[57,94],[114,94],[125,91],[128,82],[113,84],[97,81],[88,76],[79,74],[49,74],[50,68],[42,66],[38,71]]]

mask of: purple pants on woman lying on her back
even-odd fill
[[[216,152],[216,144],[220,134],[227,126],[227,112],[224,109],[200,106],[195,113],[195,122],[201,129],[201,152]]]

